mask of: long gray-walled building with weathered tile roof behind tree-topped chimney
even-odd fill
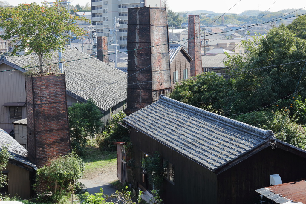
[[[57,52],[49,63],[57,63]],[[123,110],[126,105],[127,74],[85,54],[76,48],[63,52],[63,69],[66,73],[67,105],[95,101],[103,113],[104,124],[111,113]],[[0,128],[13,130],[12,122],[26,118],[24,73],[39,65],[37,54],[2,57],[0,60]],[[53,65],[52,65],[53,66]],[[45,66],[49,70],[49,66]],[[9,71],[14,70],[14,71]],[[4,72],[2,72],[4,71]]]

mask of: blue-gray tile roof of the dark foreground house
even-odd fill
[[[273,134],[163,95],[124,121],[213,171],[259,147]]]

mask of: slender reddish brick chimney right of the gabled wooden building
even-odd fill
[[[188,39],[188,54],[193,59],[190,61],[190,76],[196,76],[202,73],[199,15],[188,16]]]

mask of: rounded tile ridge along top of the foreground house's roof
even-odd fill
[[[168,98],[165,95],[160,95],[159,99],[177,104],[179,106],[185,107],[185,108],[190,109],[192,111],[202,113],[202,114],[204,114],[208,117],[212,117],[212,118],[215,118],[217,120],[224,121],[224,122],[232,124],[234,126],[240,126],[241,128],[243,128],[245,130],[252,131],[252,132],[255,132],[257,134],[263,135],[263,137],[266,138],[266,139],[269,138],[269,136],[274,136],[274,133],[271,130],[264,130],[264,129],[261,129],[261,128],[257,128],[255,126],[252,126],[252,125],[240,122],[240,121],[236,121],[236,120],[233,120],[231,118],[228,118],[228,117],[225,117],[225,116],[222,116],[222,115],[218,115],[216,113],[209,112],[207,110],[203,110],[201,108],[198,108],[198,107],[195,107],[195,106],[192,106],[192,105],[174,100],[172,98]]]

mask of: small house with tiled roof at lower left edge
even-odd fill
[[[3,145],[8,145],[11,158],[6,169],[2,173],[9,177],[8,184],[0,188],[2,195],[29,198],[32,195],[32,184],[35,178],[35,164],[28,160],[28,151],[22,147],[4,130],[0,129],[0,150]]]

